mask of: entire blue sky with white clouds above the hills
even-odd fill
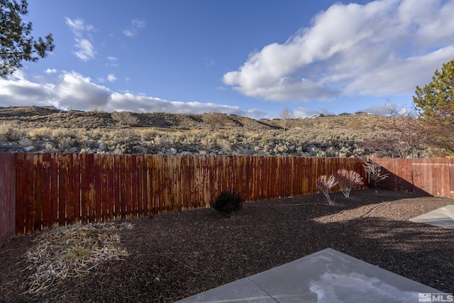
[[[454,0],[29,0],[55,50],[0,106],[255,119],[411,106],[454,58]]]

